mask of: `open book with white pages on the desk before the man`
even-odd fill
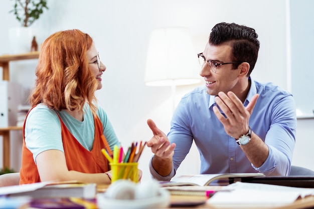
[[[174,177],[171,181],[160,181],[161,186],[184,186],[184,185],[210,185],[215,180],[229,180],[229,178],[265,176],[263,173],[219,173],[219,174],[199,174],[181,175]]]

